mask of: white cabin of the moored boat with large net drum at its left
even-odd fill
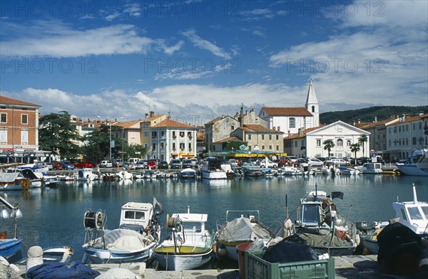
[[[130,201],[122,206],[120,228],[144,230],[151,224],[153,204]]]

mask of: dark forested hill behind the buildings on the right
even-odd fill
[[[428,105],[418,107],[404,107],[404,106],[379,106],[379,107],[366,107],[359,110],[343,110],[338,112],[324,112],[320,114],[320,123],[330,124],[341,120],[348,124],[361,120],[361,122],[373,122],[374,117],[377,120],[386,120],[391,118],[392,115],[419,115],[419,112],[428,113]]]

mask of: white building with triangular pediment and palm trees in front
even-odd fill
[[[342,121],[334,122],[322,127],[314,127],[300,130],[295,135],[284,138],[284,152],[296,157],[355,157],[351,152],[351,144],[359,143],[358,138],[367,135],[370,140],[370,132],[361,130]],[[332,139],[335,147],[328,151],[324,149],[325,140]],[[369,157],[370,148],[365,146],[365,154],[357,152],[357,157]]]

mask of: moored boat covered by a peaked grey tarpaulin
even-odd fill
[[[229,214],[240,214],[240,217],[229,221]],[[247,217],[244,214],[248,214]],[[258,218],[256,219],[255,215]],[[236,246],[242,243],[250,243],[256,240],[270,241],[275,238],[275,233],[260,223],[260,212],[258,210],[250,211],[226,211],[226,221],[223,224],[217,223],[217,233],[215,235],[215,247],[219,257],[225,257],[232,260],[238,260]]]

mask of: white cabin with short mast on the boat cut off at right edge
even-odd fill
[[[419,235],[428,235],[428,203],[417,200],[415,187],[413,201],[397,201],[392,203],[392,208],[400,223]]]

